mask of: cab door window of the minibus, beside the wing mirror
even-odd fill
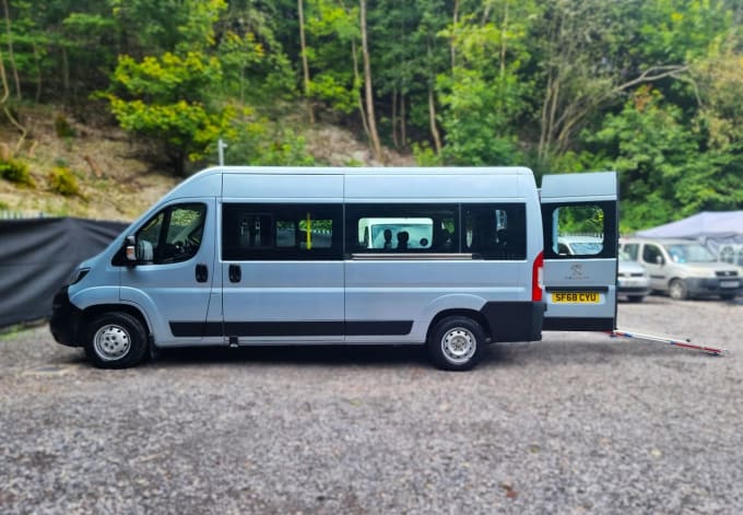
[[[186,261],[199,250],[207,206],[170,206],[150,219],[137,233],[137,258],[164,265]]]

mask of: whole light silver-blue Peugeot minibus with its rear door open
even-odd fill
[[[50,328],[102,367],[178,346],[408,343],[447,370],[543,325],[613,329],[615,175],[545,177],[541,195],[522,167],[209,168],[80,266]],[[601,255],[545,248],[558,213],[595,209]]]

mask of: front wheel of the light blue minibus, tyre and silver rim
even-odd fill
[[[128,313],[106,313],[87,325],[85,354],[99,368],[134,366],[144,359],[146,351],[146,330]]]

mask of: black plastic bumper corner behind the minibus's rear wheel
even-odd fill
[[[488,302],[480,309],[493,341],[540,341],[543,302]]]

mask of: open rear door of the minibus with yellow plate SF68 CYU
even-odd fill
[[[545,330],[616,328],[617,180],[615,172],[545,175]]]

